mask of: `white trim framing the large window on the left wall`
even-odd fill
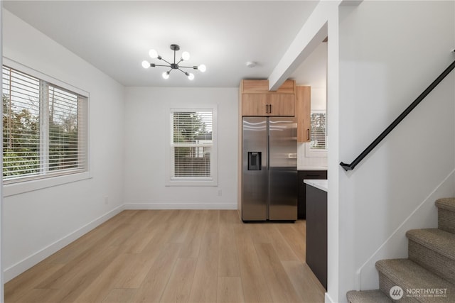
[[[68,84],[66,82],[60,81],[58,79],[55,79],[49,75],[43,74],[42,72],[39,72],[38,70],[34,70],[31,67],[27,67],[26,65],[22,65],[19,62],[16,62],[14,60],[9,59],[8,57],[2,57],[2,65],[6,65],[8,67],[13,68],[14,70],[18,70],[20,72],[26,73],[28,75],[31,75],[33,77],[36,77],[38,79],[44,80],[45,82],[52,83],[58,87],[62,87],[63,89],[68,89],[71,92],[75,92],[76,94],[80,94],[80,96],[87,98],[87,100],[90,100],[90,93],[86,92],[83,89],[74,87],[71,84]],[[90,130],[90,119],[89,119],[89,113],[90,113],[90,101],[87,102],[87,130]],[[68,184],[71,182],[77,182],[81,180],[87,180],[90,179],[91,172],[90,172],[90,131],[87,131],[87,170],[84,172],[74,172],[70,173],[68,175],[58,175],[55,177],[46,177],[42,179],[36,179],[33,180],[33,178],[28,179],[25,178],[24,180],[19,180],[18,182],[15,183],[10,183],[10,184],[4,184],[3,183],[3,195],[4,197],[9,197],[9,196],[14,196],[16,194],[23,194],[25,192],[33,192],[35,190],[39,189],[45,189],[48,187],[54,187],[62,184]],[[2,178],[3,179],[3,178]]]

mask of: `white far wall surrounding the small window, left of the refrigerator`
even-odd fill
[[[237,100],[237,88],[127,87],[125,207],[237,209]],[[182,104],[218,106],[217,187],[165,186],[169,142],[165,116],[170,106]]]

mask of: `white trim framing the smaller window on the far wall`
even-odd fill
[[[173,111],[207,111],[210,110],[213,113],[212,116],[212,151],[210,153],[210,175],[212,177],[171,177],[173,165],[171,162],[171,156],[173,154],[171,148],[171,131],[172,121],[171,113]],[[165,161],[166,161],[166,174],[165,174],[165,185],[166,186],[218,186],[218,105],[216,104],[204,104],[188,106],[187,104],[178,104],[177,106],[169,106],[165,114],[165,131],[166,131],[166,150],[165,150]]]

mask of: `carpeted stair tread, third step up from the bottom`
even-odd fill
[[[424,228],[407,231],[406,236],[436,253],[455,260],[455,235],[453,233],[438,228]]]

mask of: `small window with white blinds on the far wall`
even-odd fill
[[[213,109],[171,109],[170,184],[215,181],[215,116]]]

